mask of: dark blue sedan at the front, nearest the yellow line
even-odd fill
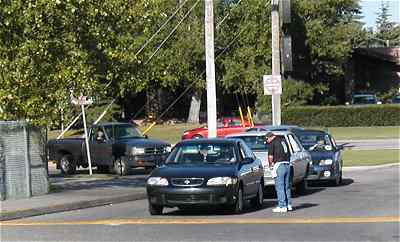
[[[247,199],[261,207],[263,174],[261,161],[243,141],[181,141],[165,164],[147,178],[149,212],[157,215],[164,207],[222,205],[240,213]]]

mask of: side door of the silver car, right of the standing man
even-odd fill
[[[307,169],[307,155],[305,154],[304,148],[300,142],[294,137],[293,134],[288,134],[286,139],[292,150],[290,162],[293,166],[293,182],[297,183],[301,181],[306,175]]]

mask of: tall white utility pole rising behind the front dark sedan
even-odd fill
[[[217,137],[217,101],[215,91],[213,0],[205,0],[204,4],[208,138],[215,138]]]

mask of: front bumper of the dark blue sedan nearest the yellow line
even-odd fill
[[[151,204],[167,207],[184,205],[234,204],[237,186],[173,188],[147,187],[147,197]]]

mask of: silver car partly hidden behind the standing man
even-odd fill
[[[271,171],[268,164],[268,147],[269,144],[266,142],[265,135],[269,131],[252,131],[241,134],[229,135],[229,139],[240,139],[244,141],[253,153],[261,160],[264,166],[264,185],[267,188],[275,185],[275,181],[272,178]],[[311,162],[310,153],[303,148],[300,141],[290,131],[273,131],[277,136],[285,137],[289,144],[289,150],[291,154],[291,172],[293,174],[293,185],[299,193],[303,193],[307,190],[307,170],[309,163]]]

